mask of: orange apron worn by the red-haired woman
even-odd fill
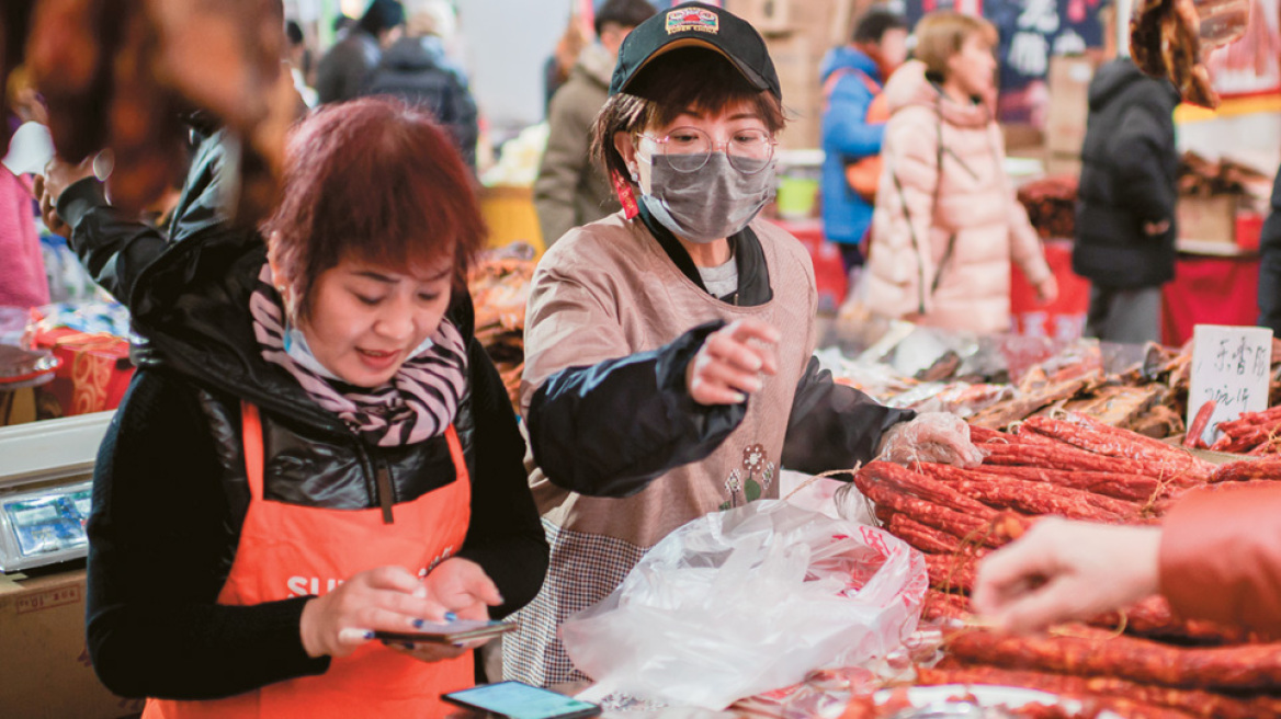
[[[225,605],[250,605],[332,591],[346,577],[375,567],[401,565],[425,576],[462,546],[471,516],[471,482],[459,435],[446,432],[456,481],[414,502],[382,510],[323,509],[263,502],[263,426],[257,407],[242,403],[250,504],[236,560],[218,595]],[[443,716],[439,699],[475,683],[471,652],[427,664],[370,641],[336,658],[329,670],[268,684],[228,699],[149,699],[143,719]]]

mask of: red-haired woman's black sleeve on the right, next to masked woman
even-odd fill
[[[475,421],[471,523],[459,557],[484,568],[502,594],[494,618],[529,604],[547,574],[547,540],[529,491],[525,441],[498,370],[471,340],[471,407]]]

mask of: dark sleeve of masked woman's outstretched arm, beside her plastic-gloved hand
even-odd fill
[[[783,466],[810,475],[851,470],[875,458],[885,430],[913,417],[912,409],[885,407],[834,383],[831,372],[811,357],[792,402]]]

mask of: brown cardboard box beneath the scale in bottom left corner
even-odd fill
[[[0,577],[0,707],[24,719],[117,719],[141,700],[106,691],[85,646],[85,569]]]

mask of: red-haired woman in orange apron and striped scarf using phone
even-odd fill
[[[164,716],[442,713],[441,691],[473,682],[465,650],[370,632],[506,615],[547,567],[524,443],[473,336],[461,278],[482,225],[445,133],[388,100],[320,111],[290,145],[268,243],[208,209],[167,238],[94,179],[51,192],[146,340],[95,471],[102,682]]]

